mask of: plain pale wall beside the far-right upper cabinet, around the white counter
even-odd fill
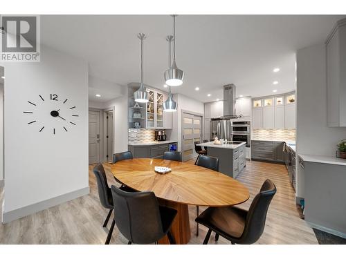
[[[327,127],[325,45],[297,52],[297,153],[335,155],[346,128]],[[304,198],[304,175],[297,166],[297,196]]]

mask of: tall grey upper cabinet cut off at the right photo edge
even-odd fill
[[[346,19],[340,20],[326,40],[327,124],[346,126]]]

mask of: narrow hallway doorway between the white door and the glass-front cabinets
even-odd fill
[[[104,128],[104,157],[103,160],[107,162],[112,161],[113,156],[113,135],[114,135],[114,121],[113,121],[113,109],[103,111],[103,128]]]

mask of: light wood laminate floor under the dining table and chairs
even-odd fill
[[[193,164],[194,160],[190,160],[189,163]],[[109,184],[116,184],[109,171],[109,165],[104,164],[104,167]],[[93,166],[89,166],[89,195],[8,224],[0,224],[0,244],[103,244],[107,237],[107,229],[103,229],[102,224],[108,211],[100,204],[92,168]],[[239,207],[248,209],[251,200],[267,178],[273,180],[277,186],[277,193],[268,209],[266,227],[257,244],[318,244],[311,227],[299,218],[295,208],[294,191],[284,165],[246,161],[246,168],[238,175],[237,180],[248,187],[250,199]],[[2,199],[1,189],[1,204]],[[191,206],[189,209],[192,232],[190,244],[201,244],[207,229],[200,226],[199,236],[195,235],[196,207]],[[200,207],[200,211],[203,209],[206,208]],[[110,223],[111,220],[109,225]],[[116,227],[111,244],[127,244],[127,240]],[[209,244],[230,244],[230,242],[221,237],[215,242],[213,233]]]

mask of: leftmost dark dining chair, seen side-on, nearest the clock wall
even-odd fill
[[[100,202],[104,208],[109,209],[107,218],[106,220],[104,220],[104,223],[102,225],[102,227],[107,227],[109,218],[111,218],[111,213],[114,209],[113,198],[111,196],[111,189],[108,186],[106,172],[104,171],[104,167],[102,166],[102,164],[96,164],[96,166],[93,168],[93,173],[95,174],[96,181],[98,184],[98,196],[100,198]],[[126,187],[121,188],[125,189]],[[113,232],[114,224],[115,221],[113,219],[113,221],[111,222],[111,227],[108,231],[105,244],[109,244],[109,241],[111,240],[111,233]]]

